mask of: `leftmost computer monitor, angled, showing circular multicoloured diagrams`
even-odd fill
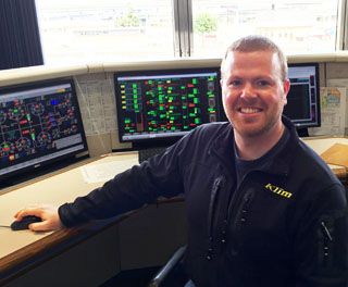
[[[72,79],[1,87],[0,127],[0,178],[87,150]]]

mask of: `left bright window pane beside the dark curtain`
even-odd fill
[[[169,59],[171,0],[36,0],[46,64]]]

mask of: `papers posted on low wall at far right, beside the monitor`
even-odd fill
[[[311,136],[343,136],[346,128],[346,88],[320,88],[321,127],[309,129]]]

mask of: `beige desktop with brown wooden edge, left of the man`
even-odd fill
[[[121,163],[121,170],[126,170],[129,165],[138,163],[138,157],[135,152],[115,153],[98,160],[89,160],[82,166],[75,166],[59,172],[53,176],[47,176],[26,185],[20,185],[15,190],[1,195],[0,225],[10,225],[14,221],[13,214],[23,207],[36,203],[60,205],[73,201],[76,197],[87,195],[94,188],[102,185],[103,182],[86,183],[83,169],[98,166],[98,164],[108,165],[114,162]],[[30,230],[13,232],[11,228],[0,228],[0,279],[2,274],[20,263],[85,233],[90,229],[91,225],[96,226],[96,223],[79,228],[63,228],[47,233],[33,233]]]

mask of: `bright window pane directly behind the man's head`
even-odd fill
[[[286,53],[336,49],[338,0],[192,0],[194,55],[223,54],[248,34],[272,38]]]

